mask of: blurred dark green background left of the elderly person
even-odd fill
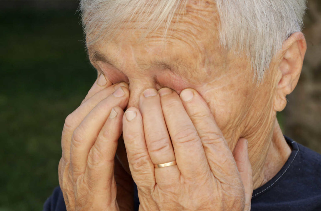
[[[42,210],[61,131],[97,77],[75,10],[0,14],[0,211]]]

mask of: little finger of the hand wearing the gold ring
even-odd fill
[[[123,136],[132,177],[142,191],[150,190],[155,185],[154,165],[145,143],[142,115],[135,107],[123,116]]]

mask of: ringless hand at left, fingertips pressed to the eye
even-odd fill
[[[67,116],[61,140],[59,185],[68,211],[119,210],[115,153],[128,98],[126,83],[112,85],[100,75],[82,104]],[[116,167],[119,169],[117,163]]]

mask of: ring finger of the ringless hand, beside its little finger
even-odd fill
[[[75,177],[85,171],[88,153],[111,109],[116,106],[124,109],[128,102],[128,96],[128,89],[119,87],[112,95],[98,103],[74,130],[70,145],[70,169]]]

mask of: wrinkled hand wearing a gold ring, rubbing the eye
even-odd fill
[[[149,97],[146,97],[149,96]],[[181,97],[181,99],[180,99]],[[123,136],[140,210],[250,209],[247,140],[234,157],[213,114],[194,90],[148,89],[123,116]],[[154,164],[177,165],[154,168]]]

